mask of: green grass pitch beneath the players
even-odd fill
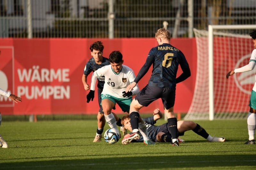
[[[244,144],[246,120],[194,122],[226,142],[207,142],[190,130],[180,137],[186,142],[179,147],[123,145],[123,137],[116,144],[93,143],[95,120],[3,121],[0,133],[9,148],[0,148],[0,169],[256,169],[256,145]]]

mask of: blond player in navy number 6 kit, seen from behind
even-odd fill
[[[133,83],[125,90],[125,92],[131,91],[153,64],[153,71],[148,85],[132,100],[130,119],[133,133],[124,138],[123,141],[124,143],[129,143],[130,140],[133,140],[133,137],[139,135],[140,108],[148,106],[160,98],[164,105],[164,114],[168,118],[168,128],[172,134],[172,146],[179,146],[177,118],[173,113],[176,84],[187,79],[191,73],[184,54],[170,44],[171,34],[168,30],[165,28],[158,29],[155,38],[159,45],[149,51],[146,63],[140,69]],[[179,65],[183,73],[176,78]]]

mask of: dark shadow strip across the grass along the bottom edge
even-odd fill
[[[110,155],[111,156],[111,155]],[[58,159],[58,158],[57,158]],[[59,158],[61,159],[61,158]],[[63,159],[63,158],[62,158]],[[65,158],[67,159],[67,158]],[[255,167],[252,155],[194,155],[194,156],[143,156],[100,159],[67,159],[1,163],[0,169],[173,169],[173,168],[223,168]]]

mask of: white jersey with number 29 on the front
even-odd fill
[[[122,69],[118,73],[112,69],[111,65],[106,65],[93,72],[91,90],[95,90],[96,79],[101,76],[105,76],[105,84],[101,94],[108,94],[116,98],[124,98],[122,92],[135,79],[133,70],[126,65],[122,65]],[[132,90],[132,95],[136,95],[138,92],[139,87],[136,85]]]

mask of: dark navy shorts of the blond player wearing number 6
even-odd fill
[[[148,106],[150,103],[160,98],[166,109],[173,107],[175,102],[175,89],[146,85],[134,99],[138,100],[142,106]]]

